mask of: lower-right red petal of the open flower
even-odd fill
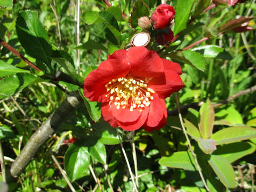
[[[148,118],[145,124],[150,127],[155,127],[159,124],[161,119],[164,116],[164,110],[163,105],[158,97],[158,94],[155,93],[153,95],[154,99],[153,101],[150,101],[150,106],[149,106],[149,112],[148,112]]]

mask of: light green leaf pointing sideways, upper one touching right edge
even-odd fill
[[[256,137],[256,129],[247,126],[235,126],[222,129],[215,132],[211,139],[214,139],[216,145],[229,142],[247,140]]]

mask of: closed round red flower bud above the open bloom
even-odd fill
[[[151,15],[154,29],[165,29],[170,26],[174,15],[175,11],[172,6],[166,4],[159,5]]]

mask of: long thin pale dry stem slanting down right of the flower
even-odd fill
[[[206,189],[207,191],[210,192],[210,190],[209,190],[209,188],[208,188],[208,186],[207,186],[207,184],[206,184],[206,182],[205,182],[205,179],[204,179],[203,173],[202,173],[202,171],[201,171],[201,168],[200,168],[200,166],[199,166],[199,164],[198,164],[198,162],[197,162],[196,154],[194,153],[193,148],[192,148],[192,146],[191,146],[190,140],[189,140],[189,138],[188,138],[187,131],[186,131],[185,126],[184,126],[184,124],[183,124],[183,119],[182,119],[182,116],[181,116],[181,113],[180,113],[180,104],[179,104],[179,100],[178,100],[178,95],[177,95],[176,92],[175,92],[174,94],[175,94],[175,100],[176,100],[176,103],[177,103],[177,109],[178,109],[178,113],[179,113],[179,119],[180,119],[181,127],[182,127],[182,130],[183,130],[183,132],[184,132],[184,134],[185,134],[185,137],[186,137],[186,139],[187,139],[187,141],[188,141],[189,150],[190,150],[190,152],[191,152],[193,158],[195,159],[195,163],[196,163],[196,166],[197,166],[197,170],[198,170],[198,173],[199,173],[199,175],[200,175],[200,177],[201,177],[201,179],[202,179],[202,181],[203,181],[203,183],[204,183],[204,187],[205,187],[205,189]]]

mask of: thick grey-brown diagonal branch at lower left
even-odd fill
[[[54,113],[47,118],[46,122],[31,136],[20,155],[12,163],[11,174],[13,177],[18,177],[34,157],[39,147],[49,139],[61,123],[66,121],[69,115],[78,107],[79,103],[82,102],[83,99],[78,91],[68,95],[67,99],[61,103]]]

